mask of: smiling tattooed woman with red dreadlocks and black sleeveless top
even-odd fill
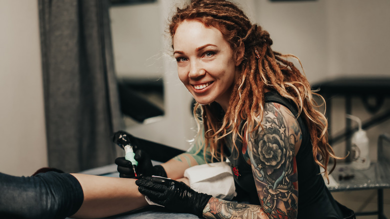
[[[153,168],[178,179],[192,165],[228,158],[250,204],[157,177],[138,179],[138,190],[171,210],[205,218],[352,218],[319,174],[319,166],[327,169],[329,158],[339,157],[327,142],[317,94],[286,60],[295,56],[273,51],[268,32],[225,0],[177,8],[169,32],[178,76],[197,102],[198,135],[188,152]],[[141,152],[137,158],[140,166],[148,163]],[[119,172],[130,173],[116,162]]]

